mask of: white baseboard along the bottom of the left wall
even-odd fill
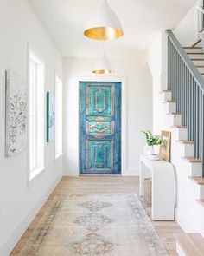
[[[62,172],[57,175],[54,182],[46,189],[44,194],[35,201],[34,207],[29,210],[28,213],[24,215],[21,221],[19,221],[14,227],[10,236],[4,241],[3,245],[0,247],[1,256],[9,256],[17,242],[21,239],[22,234],[25,233],[30,223],[35,219],[35,216],[41,210],[46,200],[48,200],[49,195],[53,192],[54,187],[61,181]]]

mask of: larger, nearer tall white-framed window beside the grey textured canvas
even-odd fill
[[[29,178],[44,168],[44,63],[30,51]]]

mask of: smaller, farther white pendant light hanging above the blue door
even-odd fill
[[[103,43],[103,55],[96,62],[95,69],[92,70],[92,73],[99,75],[110,75],[115,73],[115,70],[111,68],[111,64],[108,58],[105,56],[105,49]]]

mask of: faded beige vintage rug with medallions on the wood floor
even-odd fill
[[[19,256],[166,256],[133,194],[56,196]]]

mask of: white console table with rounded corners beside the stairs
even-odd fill
[[[152,220],[175,220],[175,170],[167,161],[151,161],[140,157],[140,195],[143,180],[152,178]]]

